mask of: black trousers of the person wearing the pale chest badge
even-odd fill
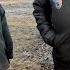
[[[70,63],[65,63],[63,61],[60,61],[60,59],[56,57],[57,54],[54,51],[52,55],[54,62],[54,70],[70,70]]]

